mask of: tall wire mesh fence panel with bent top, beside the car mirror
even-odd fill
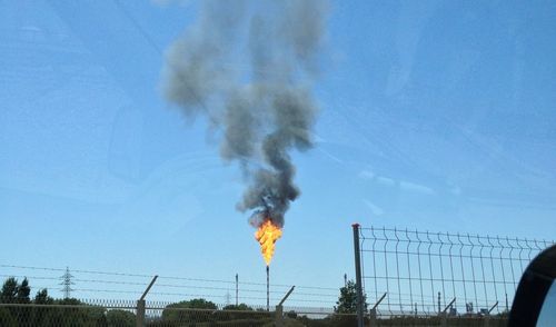
[[[396,228],[359,230],[367,303],[373,307],[384,297],[377,313],[389,316],[503,315],[528,262],[554,244]]]

